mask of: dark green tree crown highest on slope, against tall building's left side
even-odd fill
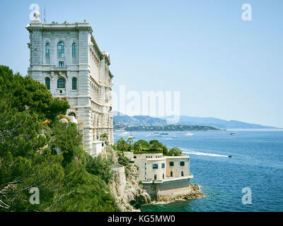
[[[11,109],[18,112],[28,109],[31,114],[36,112],[40,120],[54,120],[58,114],[66,114],[70,107],[67,101],[53,98],[45,85],[30,76],[14,75],[7,66],[0,66],[0,87],[1,99],[9,100]]]

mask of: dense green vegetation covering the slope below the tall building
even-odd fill
[[[117,211],[108,162],[89,157],[76,124],[57,119],[68,102],[7,66],[0,97],[0,211]],[[39,205],[30,204],[33,187]]]

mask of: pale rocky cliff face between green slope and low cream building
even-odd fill
[[[114,172],[109,185],[120,211],[139,211],[140,205],[151,203],[149,194],[146,190],[141,189],[139,184],[137,167],[132,163],[125,166],[119,165],[117,152],[110,147],[106,148],[106,154],[113,164]]]

